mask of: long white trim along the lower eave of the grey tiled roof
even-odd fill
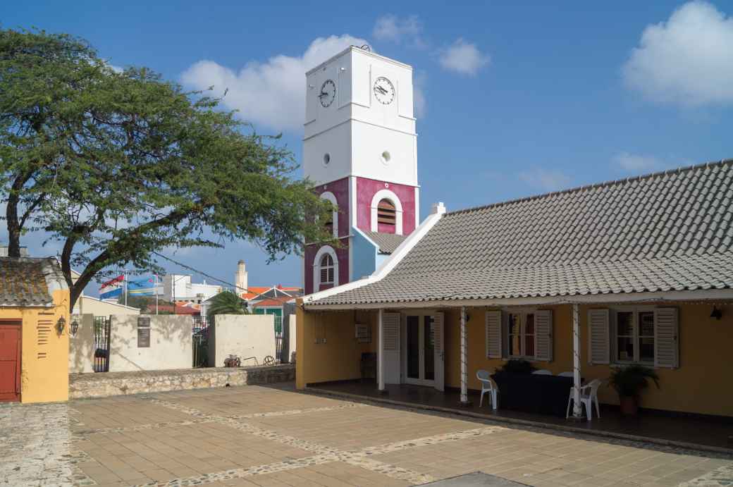
[[[366,304],[322,304],[313,305],[312,310],[379,310],[401,308],[454,308],[454,307],[501,307],[501,306],[550,306],[554,304],[615,304],[645,303],[659,301],[714,301],[733,300],[733,289],[682,290],[655,293],[586,294],[582,296],[550,296],[541,298],[508,299],[435,299],[433,301],[405,301]]]

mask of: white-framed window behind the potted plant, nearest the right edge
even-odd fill
[[[654,364],[654,310],[624,309],[615,314],[614,362]]]

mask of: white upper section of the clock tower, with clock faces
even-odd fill
[[[351,46],[306,73],[303,172],[418,186],[412,67]]]

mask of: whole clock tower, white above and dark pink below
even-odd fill
[[[351,46],[306,73],[303,172],[336,208],[306,294],[368,276],[419,224],[412,67]]]

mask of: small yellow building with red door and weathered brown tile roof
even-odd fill
[[[0,401],[68,399],[69,299],[54,258],[0,257]]]

